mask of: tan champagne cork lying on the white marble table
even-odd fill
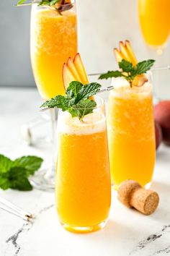
[[[150,215],[158,207],[159,197],[151,189],[144,189],[131,179],[120,184],[117,198],[128,208],[135,208],[140,213]]]

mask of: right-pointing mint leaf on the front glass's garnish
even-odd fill
[[[102,85],[99,85],[97,82],[91,82],[88,85],[84,85],[79,93],[77,93],[76,102],[79,102],[82,99],[86,99],[97,94],[100,88],[102,88]]]

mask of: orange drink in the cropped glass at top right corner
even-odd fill
[[[170,31],[170,1],[138,0],[138,12],[146,43],[151,46],[164,45]]]

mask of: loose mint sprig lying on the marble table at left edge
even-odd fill
[[[0,188],[32,190],[28,177],[35,174],[42,161],[42,158],[34,155],[22,156],[22,158],[17,158],[14,161],[0,155]]]

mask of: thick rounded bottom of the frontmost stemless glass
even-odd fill
[[[106,225],[107,220],[102,221],[99,224],[96,224],[94,226],[71,226],[66,223],[62,223],[61,225],[66,229],[67,231],[73,232],[73,233],[79,233],[79,234],[84,234],[84,233],[90,233],[90,232],[95,232],[100,229],[103,229],[104,226]]]

